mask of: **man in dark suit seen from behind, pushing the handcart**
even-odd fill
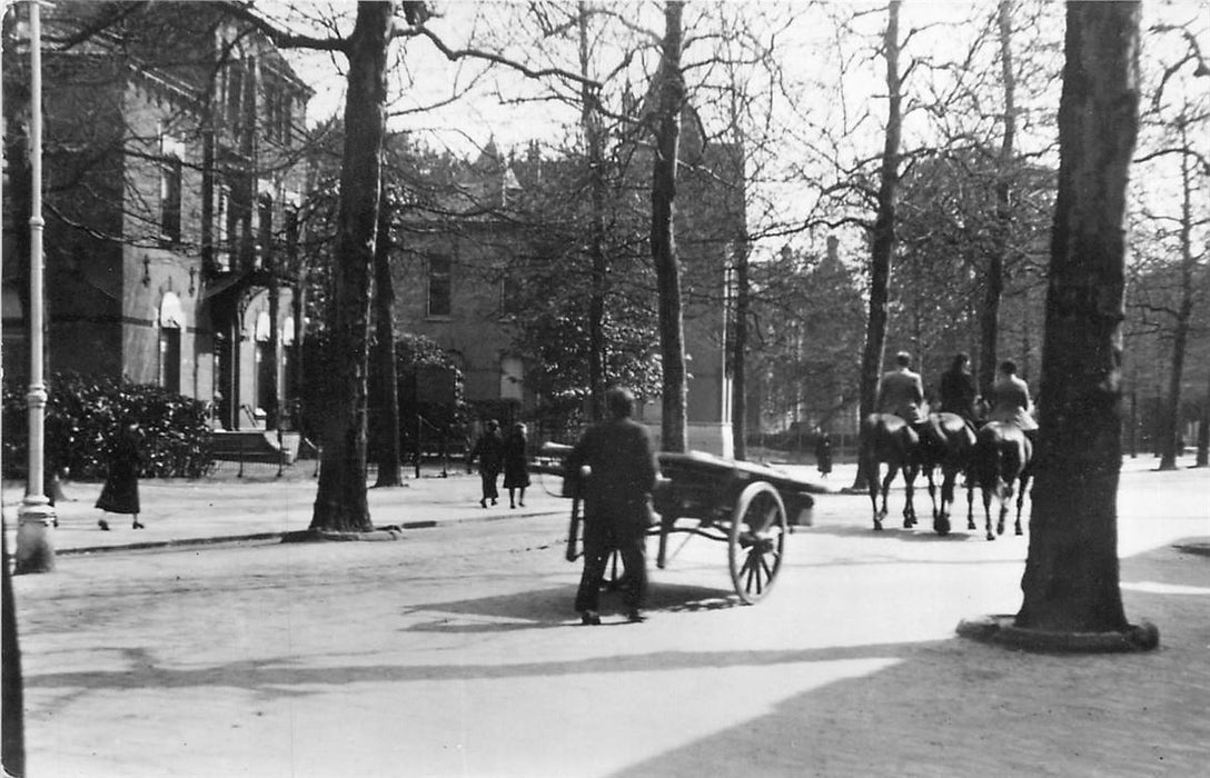
[[[628,618],[643,621],[640,607],[647,588],[644,541],[651,521],[650,497],[656,485],[651,437],[630,415],[634,396],[612,387],[605,392],[607,419],[590,427],[567,456],[566,472],[580,478],[588,468],[584,500],[584,572],[576,592],[576,610],[584,624],[599,624],[601,581],[610,551],[626,567],[624,601]]]

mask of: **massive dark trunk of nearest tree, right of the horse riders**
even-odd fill
[[[1016,626],[1124,632],[1117,557],[1127,180],[1139,2],[1070,2],[1041,432]]]

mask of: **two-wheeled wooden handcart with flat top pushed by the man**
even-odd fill
[[[563,476],[563,460],[570,446],[546,444],[538,471]],[[793,525],[808,525],[813,494],[824,486],[786,473],[736,460],[691,451],[661,453],[659,479],[652,494],[656,517],[649,535],[659,538],[656,565],[668,563],[668,538],[688,534],[727,546],[731,583],[741,601],[753,604],[768,594],[782,569],[785,538]],[[569,484],[564,479],[564,484]],[[566,558],[574,561],[582,544],[580,499],[571,497]],[[617,554],[610,563],[618,575]]]

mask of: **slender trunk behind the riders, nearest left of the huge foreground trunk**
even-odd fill
[[[996,226],[999,240],[987,260],[984,302],[979,312],[979,392],[987,397],[996,380],[996,345],[999,339],[999,300],[1004,293],[1004,258],[1010,235],[1010,169],[1013,142],[1016,136],[1016,75],[1013,71],[1013,2],[1001,0],[997,8],[999,23],[999,70],[1004,87],[1004,134],[999,143],[998,180],[996,181]]]

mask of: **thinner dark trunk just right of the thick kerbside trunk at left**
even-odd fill
[[[378,480],[375,486],[398,486],[399,478],[399,370],[394,357],[394,278],[391,276],[391,208],[386,188],[379,192],[378,238],[374,243],[374,319],[378,325],[379,375]],[[417,453],[419,454],[419,453]]]

